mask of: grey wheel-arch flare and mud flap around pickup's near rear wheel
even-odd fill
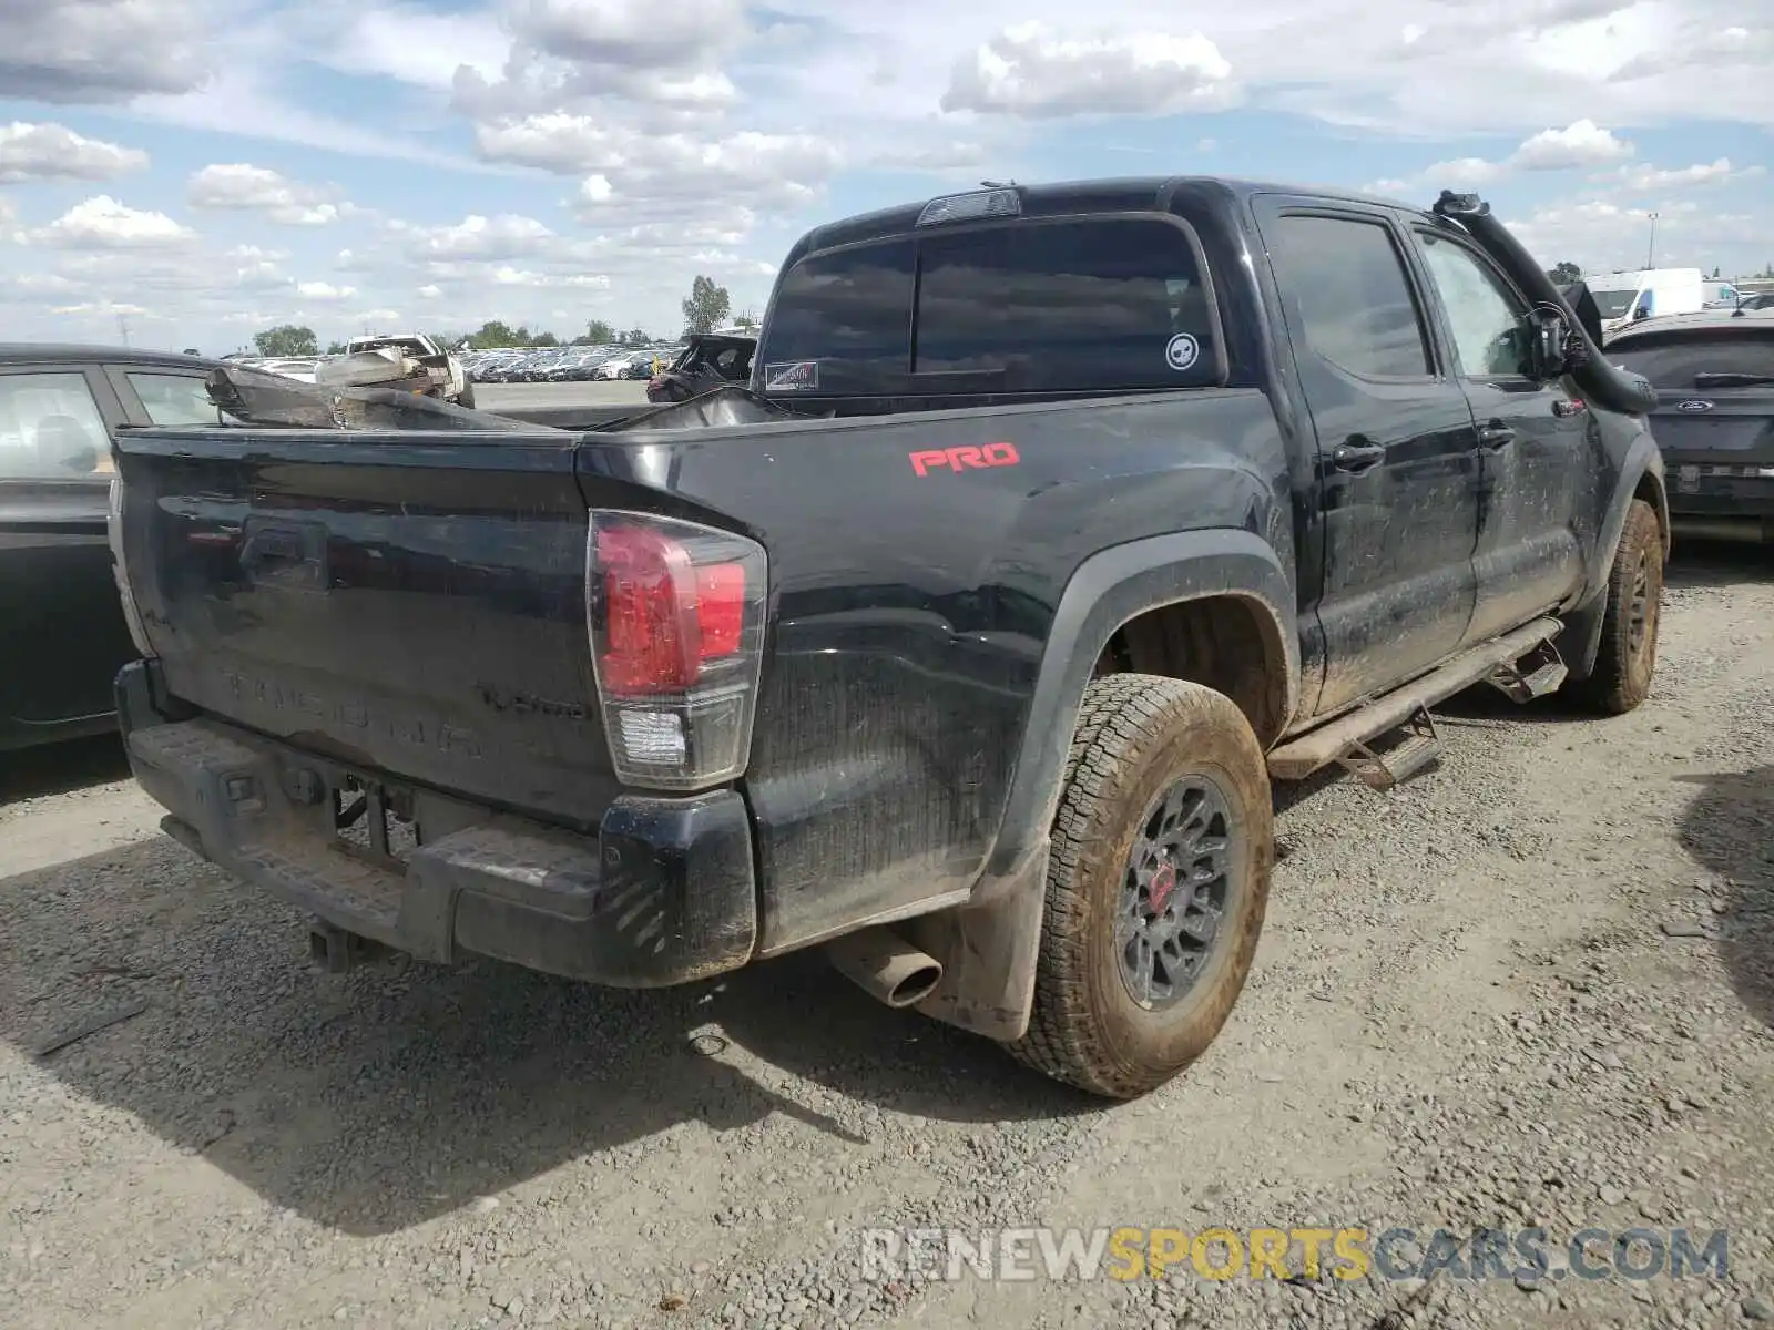
[[[1148,610],[1210,596],[1238,596],[1267,617],[1286,661],[1286,715],[1299,706],[1293,580],[1263,537],[1236,528],[1180,532],[1086,559],[1054,614],[986,869],[967,904],[907,926],[944,966],[942,982],[919,1011],[992,1039],[1024,1034],[1047,897],[1048,828],[1084,690],[1123,624]]]

